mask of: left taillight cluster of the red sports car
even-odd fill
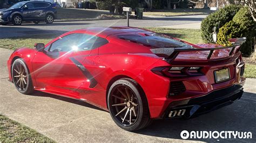
[[[151,69],[155,74],[166,77],[200,76],[202,67],[156,67]]]

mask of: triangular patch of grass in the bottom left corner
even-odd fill
[[[0,142],[55,142],[43,134],[0,115]]]

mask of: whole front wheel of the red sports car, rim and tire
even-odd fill
[[[26,63],[21,59],[16,59],[11,67],[12,82],[15,88],[22,94],[31,94],[33,92],[33,84],[30,72]]]

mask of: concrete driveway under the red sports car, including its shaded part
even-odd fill
[[[6,78],[11,53],[0,48],[0,113],[57,142],[191,142],[180,138],[183,130],[252,132],[253,138],[193,141],[256,141],[256,79],[247,79],[244,95],[230,106],[190,120],[156,120],[144,130],[127,132],[114,124],[108,112],[82,101],[43,92],[19,94]]]

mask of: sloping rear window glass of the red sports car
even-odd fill
[[[172,39],[163,34],[153,34],[153,35],[122,35],[121,39],[130,40],[132,42],[138,42],[144,45],[149,45],[153,47],[185,47],[188,46],[186,43]]]

